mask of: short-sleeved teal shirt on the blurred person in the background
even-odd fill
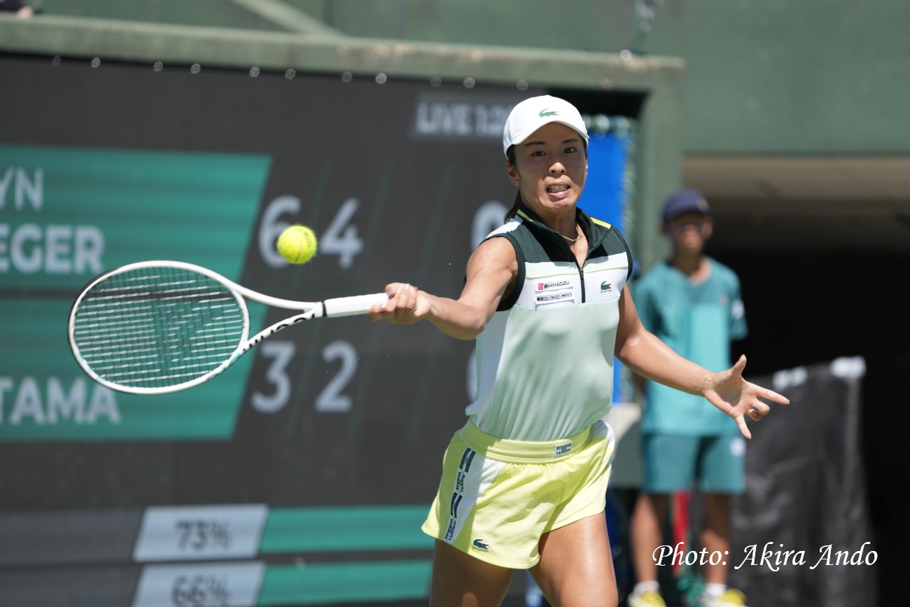
[[[672,265],[657,263],[632,288],[645,329],[675,352],[712,371],[729,369],[730,342],[748,333],[739,278],[709,258],[710,276],[693,283]],[[701,396],[645,383],[642,432],[680,436],[738,434],[732,418]]]

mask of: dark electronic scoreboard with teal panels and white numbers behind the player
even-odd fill
[[[420,523],[472,342],[327,319],[136,396],[82,374],[67,314],[96,274],[156,258],[278,298],[457,297],[514,197],[505,118],[550,91],[30,56],[0,74],[0,606],[425,597]],[[319,236],[303,266],[274,250],[296,222]]]

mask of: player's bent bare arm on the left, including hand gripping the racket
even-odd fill
[[[389,302],[385,307],[369,310],[369,320],[410,324],[426,319],[450,337],[474,339],[510,291],[517,274],[518,260],[511,242],[490,238],[480,243],[468,259],[465,284],[458,299],[393,282],[386,287]]]

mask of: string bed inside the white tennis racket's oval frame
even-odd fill
[[[74,340],[100,378],[175,386],[218,369],[246,339],[246,309],[214,278],[186,268],[109,276],[80,300]]]

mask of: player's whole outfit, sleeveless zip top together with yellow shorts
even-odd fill
[[[450,441],[423,531],[482,561],[527,569],[541,535],[599,514],[613,435],[619,299],[632,256],[581,209],[579,267],[565,239],[521,205],[487,238],[508,238],[518,276],[477,338],[477,391]]]

